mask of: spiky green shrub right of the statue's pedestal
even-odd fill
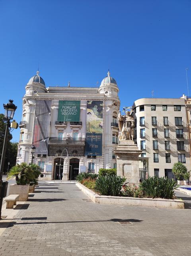
[[[139,188],[146,197],[152,198],[174,198],[174,189],[177,189],[177,183],[174,179],[167,177],[148,177],[140,183]]]

